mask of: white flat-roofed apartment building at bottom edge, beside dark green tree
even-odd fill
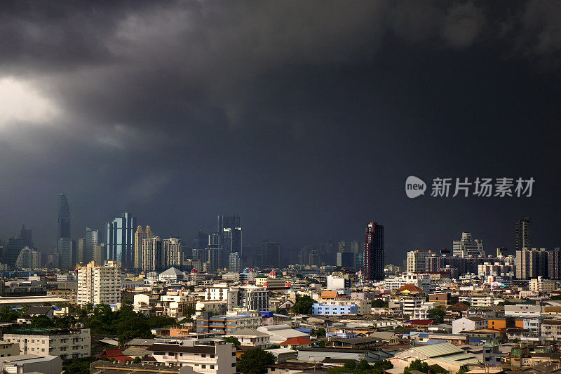
[[[228,342],[156,339],[147,350],[158,363],[191,366],[195,373],[236,373],[236,348]]]

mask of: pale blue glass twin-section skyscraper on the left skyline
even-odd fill
[[[136,218],[130,213],[107,222],[107,260],[121,262],[125,269],[135,265]]]

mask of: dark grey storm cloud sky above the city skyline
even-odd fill
[[[287,247],[377,220],[398,260],[512,246],[532,215],[561,246],[560,24],[554,1],[4,1],[0,232],[49,251],[66,192],[76,237],[123,211],[188,239],[239,213]],[[413,201],[407,175],[536,187]]]

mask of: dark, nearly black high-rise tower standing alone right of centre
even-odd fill
[[[384,279],[384,226],[368,222],[364,242],[365,279]]]

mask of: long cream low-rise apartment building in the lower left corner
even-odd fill
[[[44,328],[4,334],[4,341],[20,345],[20,354],[77,359],[90,356],[90,329]]]

